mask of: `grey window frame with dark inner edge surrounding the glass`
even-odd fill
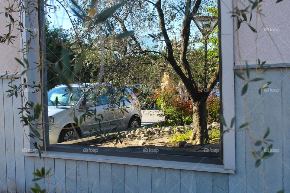
[[[233,8],[233,2],[231,0],[218,0],[218,28],[219,28],[219,67],[220,67],[220,88],[222,90],[221,92],[221,112],[225,117],[225,122],[227,124],[230,124],[231,119],[234,117],[234,21],[231,17],[232,14],[230,14],[229,8]],[[44,17],[43,14],[43,5],[40,5],[39,3],[39,11],[38,11],[38,18],[40,18],[40,22],[38,22],[38,28],[39,30],[39,37],[40,37],[40,44],[35,44],[35,47],[40,48],[40,52],[44,52],[45,54],[45,37],[41,36],[41,34],[45,34],[43,29],[44,24]],[[222,19],[221,19],[222,18]],[[29,22],[24,22],[24,24],[29,24]],[[42,33],[41,33],[42,32]],[[26,36],[30,35],[29,33],[25,34]],[[24,41],[25,42],[25,39]],[[232,53],[232,54],[229,54]],[[39,61],[39,55],[37,54],[30,54],[28,56],[28,61]],[[31,62],[33,63],[33,62]],[[33,66],[31,66],[33,68]],[[47,76],[46,76],[46,69],[44,69],[44,73],[40,74],[40,78],[43,79],[43,82],[47,82]],[[37,68],[31,69],[29,73],[27,73],[27,76],[33,77],[33,75],[37,74]],[[39,73],[38,73],[39,74]],[[35,76],[35,75],[34,75]],[[35,79],[35,78],[34,78]],[[44,84],[44,93],[47,93],[47,87]],[[39,102],[39,99],[36,99],[33,95],[40,95],[39,93],[31,94],[26,93],[29,95],[29,99]],[[31,95],[31,96],[30,96]],[[45,95],[46,96],[46,95]],[[41,102],[44,103],[44,111],[48,112],[47,109],[47,97],[41,97]],[[48,113],[45,113],[43,115],[43,122],[48,123]],[[72,148],[72,146],[67,145],[50,145],[49,144],[49,129],[48,124],[43,125],[43,138],[44,143],[46,144],[46,150],[48,151],[48,154],[54,154],[57,152],[63,152],[67,157],[71,157],[71,159],[74,158],[75,154],[82,153],[84,156],[87,156],[86,152],[83,152],[83,147],[78,146],[75,148]],[[29,133],[29,128],[24,128],[26,133]],[[27,130],[28,129],[28,130]],[[223,127],[221,125],[221,131],[223,130]],[[24,147],[30,148],[31,144],[29,143],[29,138],[24,137]],[[227,134],[225,134],[221,140],[221,158],[217,157],[204,157],[201,153],[201,156],[197,156],[197,154],[192,156],[183,156],[183,155],[171,155],[171,154],[156,154],[156,153],[136,153],[134,150],[125,151],[125,148],[121,151],[114,151],[114,148],[108,147],[110,149],[105,149],[105,147],[98,147],[98,154],[95,154],[95,161],[98,161],[98,157],[116,157],[116,160],[118,158],[127,158],[127,159],[147,159],[147,160],[164,160],[164,161],[174,161],[178,163],[202,163],[202,164],[210,164],[213,166],[221,165],[224,166],[224,172],[228,171],[230,173],[233,173],[236,169],[235,167],[235,131],[231,130]],[[87,146],[85,146],[87,147]],[[120,148],[119,148],[120,149]],[[125,153],[125,156],[124,156]],[[27,155],[33,155],[33,153],[24,153]],[[174,159],[173,159],[174,157]],[[114,159],[113,159],[114,160]],[[186,160],[186,161],[185,161]],[[136,162],[135,165],[138,165]],[[220,167],[220,166],[217,166]],[[195,170],[193,168],[193,170]],[[225,172],[225,173],[228,173]]]

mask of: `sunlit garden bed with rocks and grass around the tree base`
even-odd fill
[[[204,145],[192,145],[189,139],[192,133],[190,125],[168,127],[143,127],[121,134],[123,139],[116,144],[116,139],[105,141],[92,147],[119,147],[119,148],[155,148],[158,150],[174,150],[189,152],[220,152],[219,123],[208,124],[210,143]]]

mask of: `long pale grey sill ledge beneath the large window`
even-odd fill
[[[24,156],[38,157],[38,153],[24,153]],[[48,158],[59,158],[68,160],[82,160],[82,161],[93,161],[102,163],[117,163],[124,165],[134,166],[148,166],[148,167],[159,167],[169,169],[185,169],[192,171],[203,171],[203,172],[218,172],[234,174],[234,170],[224,169],[223,165],[205,164],[205,163],[189,163],[189,162],[178,162],[178,161],[166,161],[166,160],[150,160],[141,158],[129,158],[129,157],[116,157],[116,156],[105,156],[105,155],[92,155],[82,153],[64,153],[47,151],[43,157]]]

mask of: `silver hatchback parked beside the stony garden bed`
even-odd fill
[[[109,133],[113,129],[121,131],[141,126],[139,101],[128,87],[120,95],[121,89],[118,91],[110,84],[99,84],[97,91],[95,85],[71,84],[71,91],[66,85],[58,85],[48,91],[50,144],[88,137],[92,129]],[[105,87],[105,92],[101,93],[100,87]],[[113,97],[117,94],[121,102]],[[124,105],[125,110],[118,108],[118,104]],[[75,120],[80,120],[83,110],[93,112],[93,116],[85,116],[85,122],[78,127]]]

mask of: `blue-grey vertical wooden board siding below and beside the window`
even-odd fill
[[[256,71],[251,71],[255,78]],[[277,192],[290,191],[290,79],[284,68],[272,68],[259,74],[271,81],[279,92],[258,94],[260,82],[250,83],[244,98],[242,81],[235,78],[236,126],[251,122],[249,131],[236,132],[236,173],[222,174],[90,161],[63,160],[23,155],[23,128],[18,109],[20,98],[7,98],[11,79],[0,79],[0,192],[30,192],[32,173],[37,168],[52,168],[53,176],[38,181],[49,192]],[[18,82],[19,83],[19,82]],[[17,82],[15,84],[18,84]],[[13,107],[13,108],[12,108]],[[246,108],[245,108],[246,107]],[[234,115],[234,112],[233,112]],[[274,140],[273,157],[254,168],[253,140],[263,137],[267,126]],[[251,138],[249,138],[249,135]],[[260,176],[263,174],[265,181]]]

